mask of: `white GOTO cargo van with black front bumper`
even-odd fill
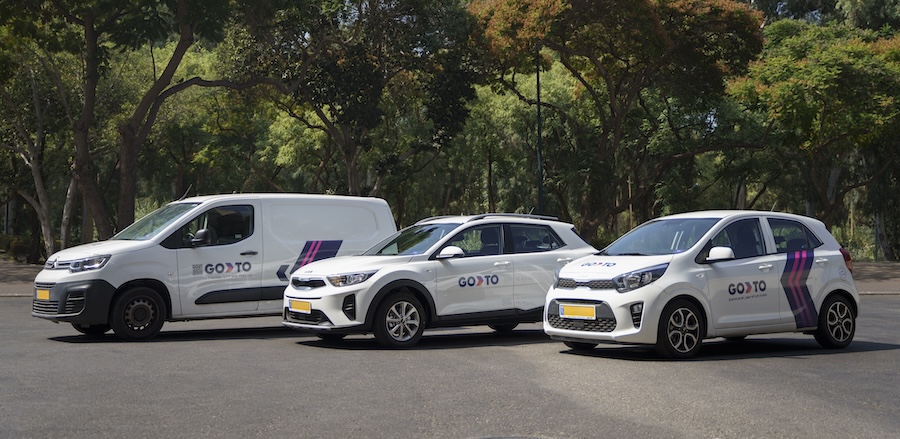
[[[50,256],[34,280],[31,315],[127,340],[155,336],[164,321],[280,315],[294,270],[362,253],[396,230],[378,198],[187,198],[107,241]]]

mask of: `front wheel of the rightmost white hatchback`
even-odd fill
[[[656,352],[666,358],[691,358],[700,351],[703,322],[690,301],[674,300],[663,309],[656,335]]]

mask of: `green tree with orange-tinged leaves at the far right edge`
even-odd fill
[[[806,164],[807,214],[830,225],[847,193],[895,163],[867,161],[866,150],[900,111],[900,64],[886,56],[897,39],[792,20],[768,26],[766,37],[763,58],[731,93],[766,115],[788,147],[783,160]]]

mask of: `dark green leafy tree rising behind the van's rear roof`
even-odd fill
[[[446,144],[462,126],[473,77],[465,62],[469,23],[459,2],[271,6],[255,15],[265,25],[233,31],[229,44],[239,54],[233,69],[248,77],[281,78],[281,95],[272,97],[307,129],[327,136],[327,149],[334,152],[327,156],[342,160],[347,193],[376,195],[380,190],[377,181],[384,175],[371,185],[363,178],[367,156],[405,160],[420,150],[392,152],[374,136],[384,122],[382,100],[392,83],[412,85],[428,96],[425,111],[432,131],[426,143]]]

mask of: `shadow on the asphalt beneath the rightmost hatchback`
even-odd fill
[[[560,353],[588,357],[631,361],[723,361],[748,358],[787,358],[819,355],[839,355],[854,352],[889,351],[900,345],[869,341],[853,341],[844,349],[824,349],[810,338],[765,338],[742,341],[713,340],[703,343],[699,354],[687,360],[671,360],[660,357],[652,346],[600,344],[592,350],[575,350],[563,346]]]

